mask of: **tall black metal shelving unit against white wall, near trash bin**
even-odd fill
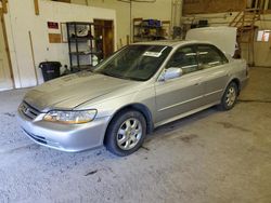
[[[77,72],[94,66],[103,55],[100,39],[96,39],[94,24],[86,22],[67,22],[67,40],[70,71]]]

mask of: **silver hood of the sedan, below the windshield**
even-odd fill
[[[40,111],[73,109],[136,83],[139,82],[85,71],[46,82],[29,91],[24,100]]]

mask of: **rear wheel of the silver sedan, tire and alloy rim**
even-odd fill
[[[236,104],[238,96],[238,89],[235,82],[231,82],[227,89],[221,98],[221,103],[219,105],[219,108],[221,110],[230,110],[234,107]]]

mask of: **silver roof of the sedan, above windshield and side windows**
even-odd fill
[[[166,46],[179,46],[179,45],[185,45],[191,43],[207,43],[211,44],[207,41],[197,41],[197,40],[159,40],[159,41],[147,41],[147,42],[137,42],[133,44],[143,44],[143,45],[166,45]]]

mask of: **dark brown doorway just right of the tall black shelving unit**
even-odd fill
[[[103,58],[108,57],[114,52],[114,22],[94,19],[94,36],[101,39]]]

